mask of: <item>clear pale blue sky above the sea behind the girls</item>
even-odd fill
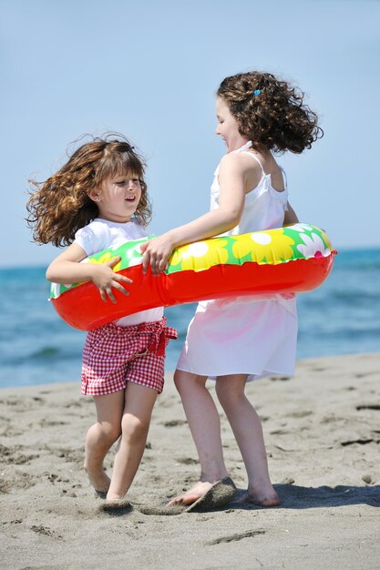
[[[27,179],[84,133],[116,130],[148,160],[152,232],[209,208],[225,152],[221,79],[259,69],[303,88],[324,138],[279,158],[299,218],[337,248],[380,247],[380,2],[0,0],[5,266],[46,265],[26,228]]]

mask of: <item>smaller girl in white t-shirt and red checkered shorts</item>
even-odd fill
[[[116,257],[98,265],[81,263],[102,249],[117,249],[147,235],[150,205],[145,163],[127,139],[94,138],[67,164],[39,184],[27,203],[28,224],[38,243],[69,247],[46,271],[56,283],[91,280],[105,302],[113,290],[128,295],[127,277],[114,273]],[[139,468],[150,416],[164,383],[165,345],[177,333],[166,327],[161,307],[144,310],[87,333],[83,351],[83,394],[94,398],[97,422],[86,439],[85,469],[101,508],[128,507],[125,495]],[[103,469],[119,439],[112,478]]]

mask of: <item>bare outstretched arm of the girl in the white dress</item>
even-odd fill
[[[251,164],[249,164],[251,167]],[[241,219],[245,199],[245,178],[249,168],[247,161],[238,155],[226,155],[221,159],[219,183],[221,187],[219,208],[214,209],[189,224],[170,229],[159,238],[150,239],[141,246],[144,253],[143,271],[146,272],[149,263],[153,275],[158,275],[166,267],[173,249],[217,236],[234,228]]]

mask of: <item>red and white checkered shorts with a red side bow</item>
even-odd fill
[[[101,396],[136,382],[159,393],[164,386],[165,348],[177,331],[161,321],[89,331],[83,349],[82,394]]]

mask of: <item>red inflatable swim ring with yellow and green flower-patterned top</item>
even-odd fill
[[[236,295],[310,291],[327,278],[334,253],[322,229],[294,224],[197,241],[175,249],[167,269],[143,274],[139,246],[151,238],[105,249],[83,262],[104,263],[121,256],[114,271],[128,276],[129,295],[114,290],[116,303],[104,302],[92,281],[52,284],[51,301],[67,324],[81,331],[97,329],[128,314],[196,300]]]

